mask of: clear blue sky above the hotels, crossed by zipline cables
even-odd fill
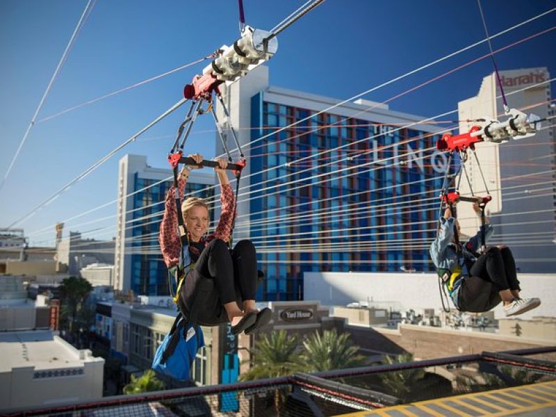
[[[86,3],[0,1],[0,178],[8,170]],[[303,3],[244,0],[247,24],[270,29]],[[556,7],[556,1],[483,0],[482,6],[492,35]],[[551,13],[494,39],[493,48],[555,24],[556,13]],[[327,0],[279,35],[278,52],[268,63],[270,82],[346,99],[484,37],[475,0]],[[99,0],[38,120],[189,63],[236,38],[237,1]],[[555,50],[556,31],[550,31],[503,51],[496,60],[500,70],[546,66],[555,76]],[[486,43],[481,44],[363,98],[384,101],[487,52]],[[0,227],[21,218],[170,108],[181,98],[183,85],[203,66],[36,123],[0,190]],[[491,60],[484,59],[389,105],[424,117],[450,111],[459,100],[475,95],[483,76],[491,71]],[[52,245],[54,223],[115,199],[117,162],[124,154],[146,154],[149,165],[166,167],[167,150],[183,111],[155,126],[16,227],[31,234],[31,243]],[[209,117],[199,120],[188,149],[212,157],[214,133],[199,133],[211,129]],[[79,226],[113,215],[115,210],[113,204],[68,223],[67,229],[87,231],[114,225],[115,219],[111,219]],[[49,226],[46,234],[33,233]]]

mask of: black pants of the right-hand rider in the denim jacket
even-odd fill
[[[502,299],[499,291],[519,290],[516,263],[509,248],[491,247],[479,256],[459,290],[459,309],[480,313],[496,307]]]

